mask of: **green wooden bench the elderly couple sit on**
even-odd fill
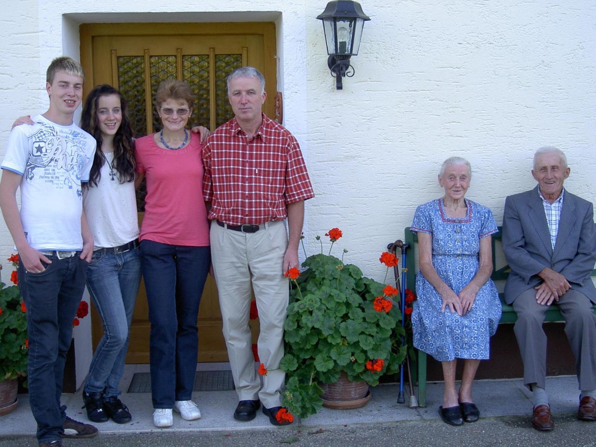
[[[596,226],[596,225],[595,225]],[[499,231],[492,235],[492,275],[491,279],[493,281],[498,280],[507,280],[509,276],[510,268],[508,265],[503,265],[500,268],[497,268],[497,265],[504,262],[505,256],[502,253],[501,249],[501,226],[498,227]],[[409,243],[408,252],[406,256],[406,268],[408,271],[406,272],[406,281],[407,287],[414,291],[416,291],[416,272],[418,271],[415,268],[415,253],[418,251],[418,234],[414,234],[409,231],[410,227],[406,226],[405,229],[405,238],[404,242]],[[399,255],[398,255],[399,256]],[[502,260],[502,262],[501,262]],[[596,276],[596,269],[592,270],[591,276]],[[513,306],[505,304],[505,300],[502,293],[499,293],[499,298],[501,299],[502,305],[502,315],[499,324],[501,323],[514,323],[517,320],[517,314],[513,310]],[[594,313],[596,313],[596,305],[594,306]],[[561,312],[558,310],[557,306],[550,306],[547,311],[547,315],[544,321],[563,321],[563,317],[561,316]],[[426,352],[418,351],[418,361],[417,363],[417,373],[418,373],[418,405],[426,406]],[[415,374],[415,373],[414,373]]]

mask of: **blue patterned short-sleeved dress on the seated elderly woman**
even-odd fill
[[[433,266],[439,278],[459,294],[478,271],[480,239],[497,232],[491,210],[471,200],[465,218],[448,218],[443,199],[418,206],[412,232],[433,237]],[[491,279],[476,294],[474,305],[464,316],[441,312],[443,300],[418,271],[418,300],[412,312],[414,346],[439,362],[455,358],[488,359],[489,339],[501,318],[501,302]]]

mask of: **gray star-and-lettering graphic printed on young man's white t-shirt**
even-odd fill
[[[58,190],[75,187],[77,196],[82,197],[80,173],[85,163],[85,134],[76,129],[61,129],[58,134],[48,123],[37,124],[39,128],[29,136],[33,144],[24,177],[28,181],[37,177]]]

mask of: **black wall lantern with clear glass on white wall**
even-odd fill
[[[323,21],[329,55],[327,65],[331,76],[336,78],[337,90],[341,90],[342,77],[354,76],[350,57],[358,55],[364,22],[371,19],[362,12],[360,4],[352,0],[329,2],[316,18]]]

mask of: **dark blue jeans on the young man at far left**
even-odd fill
[[[29,403],[38,424],[39,442],[60,439],[66,406],[60,405],[64,362],[70,347],[73,318],[85,290],[88,263],[73,257],[47,256],[41,273],[18,265],[18,287],[27,306],[29,336]]]

